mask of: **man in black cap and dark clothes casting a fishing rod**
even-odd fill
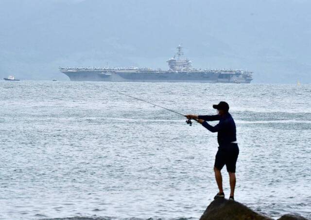
[[[225,198],[223,190],[223,178],[221,169],[226,165],[229,173],[230,182],[230,197],[229,200],[234,200],[234,189],[236,183],[235,169],[239,155],[239,147],[236,138],[236,127],[234,120],[229,113],[229,105],[226,102],[220,102],[218,105],[213,105],[217,110],[217,115],[186,115],[188,119],[195,119],[211,132],[218,132],[218,151],[215,157],[215,179],[219,188],[219,192],[214,199]],[[218,125],[211,126],[207,121],[219,121]]]

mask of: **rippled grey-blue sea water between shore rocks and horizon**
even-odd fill
[[[240,147],[236,201],[273,218],[311,218],[310,84],[3,81],[0,219],[203,214],[218,191],[217,134],[118,92],[183,114],[228,102]],[[223,181],[228,197],[225,168]]]

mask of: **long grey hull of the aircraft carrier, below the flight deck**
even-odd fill
[[[63,70],[71,81],[106,81],[106,82],[200,82],[200,83],[250,83],[235,74],[220,78],[221,73],[206,71],[96,71]]]

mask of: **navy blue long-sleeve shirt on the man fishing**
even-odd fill
[[[220,115],[199,115],[198,119],[203,119],[205,122],[202,125],[211,132],[218,132],[217,140],[219,147],[226,146],[231,142],[237,141],[236,127],[230,113],[224,116]],[[216,126],[211,126],[207,121],[219,121]]]

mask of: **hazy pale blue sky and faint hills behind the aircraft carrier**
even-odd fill
[[[59,66],[246,69],[311,83],[310,0],[0,0],[0,76],[68,79]]]

